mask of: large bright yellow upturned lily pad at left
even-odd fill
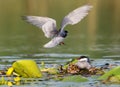
[[[42,73],[33,60],[18,60],[13,63],[12,67],[15,72],[22,77],[26,78],[39,78],[42,77]]]

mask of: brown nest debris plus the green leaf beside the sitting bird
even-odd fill
[[[102,68],[97,68],[92,66],[91,68],[80,68],[77,65],[78,59],[73,59],[66,63],[64,66],[60,67],[61,73],[66,74],[76,74],[76,75],[102,75],[104,74],[104,70]]]

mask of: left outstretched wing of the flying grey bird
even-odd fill
[[[52,38],[57,33],[56,21],[48,17],[23,16],[27,22],[41,28],[47,38]]]

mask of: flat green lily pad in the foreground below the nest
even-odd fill
[[[86,82],[88,81],[88,79],[85,77],[82,77],[81,75],[73,75],[73,76],[64,77],[62,81],[64,82]]]

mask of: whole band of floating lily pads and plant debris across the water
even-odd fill
[[[97,76],[96,80],[102,83],[120,83],[120,66],[106,70],[102,67],[80,68],[76,65],[77,59],[69,61],[59,67],[46,67],[42,61],[38,67],[33,60],[18,60],[7,70],[0,71],[0,85],[22,85],[34,81],[55,80],[63,82],[87,82],[88,77]],[[25,79],[27,78],[27,79]],[[33,78],[33,79],[32,79]],[[39,79],[39,80],[37,80]]]

